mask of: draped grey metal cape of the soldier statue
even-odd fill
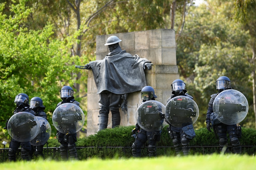
[[[113,51],[112,51],[113,52]],[[146,86],[143,69],[148,59],[132,56],[126,50],[109,53],[102,60],[90,61],[97,94],[104,90],[115,94],[132,93]]]

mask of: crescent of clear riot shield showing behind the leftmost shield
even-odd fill
[[[30,144],[33,146],[40,146],[44,145],[48,141],[51,135],[51,126],[45,118],[40,116],[36,117],[39,121],[39,132],[37,136],[30,141]]]

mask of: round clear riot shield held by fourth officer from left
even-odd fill
[[[138,125],[148,132],[161,130],[165,125],[167,125],[164,121],[164,110],[165,105],[159,101],[150,100],[141,103],[136,111],[136,120]]]

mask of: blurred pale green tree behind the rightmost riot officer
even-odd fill
[[[232,1],[207,3],[190,8],[183,32],[177,38],[179,73],[188,82],[188,93],[200,110],[195,126],[205,126],[210,95],[217,93],[215,81],[222,75],[230,78],[233,89],[246,96],[251,106],[248,118],[254,119],[249,34],[234,21]],[[248,119],[242,124],[253,126]]]

